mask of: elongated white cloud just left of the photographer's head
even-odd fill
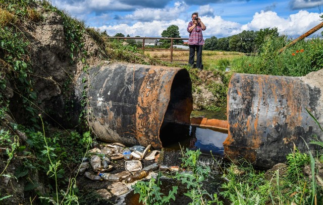
[[[165,9],[137,9],[133,14],[126,15],[124,19],[132,19],[135,21],[169,21],[178,18],[182,13],[186,12],[188,6],[184,2],[176,2],[173,7]]]

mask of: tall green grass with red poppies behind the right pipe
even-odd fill
[[[275,76],[305,76],[323,67],[323,39],[301,40],[279,53],[291,40],[286,36],[268,37],[254,56],[242,56],[231,62],[236,73]]]

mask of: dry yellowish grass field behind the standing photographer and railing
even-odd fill
[[[170,61],[171,59],[171,51],[170,50],[145,50],[145,54],[150,57],[163,59],[165,61]],[[204,64],[204,69],[214,69],[216,67],[229,64],[233,58],[240,57],[243,53],[239,52],[230,52],[230,51],[211,51],[211,50],[203,50],[202,51],[202,63]],[[180,63],[187,63],[189,57],[188,50],[173,50],[173,61]],[[183,61],[177,61],[183,60]],[[196,56],[195,56],[196,60]],[[224,65],[224,66],[225,66]]]

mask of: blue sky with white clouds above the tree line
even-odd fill
[[[51,0],[53,6],[107,34],[160,37],[177,25],[188,37],[191,14],[198,12],[206,25],[204,39],[232,36],[243,30],[277,27],[280,34],[298,37],[321,23],[323,0]],[[319,31],[314,35],[320,35]]]

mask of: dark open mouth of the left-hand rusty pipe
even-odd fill
[[[180,70],[175,75],[170,96],[164,120],[159,129],[159,140],[163,147],[189,137],[189,134],[178,134],[175,138],[173,134],[165,134],[169,130],[188,133],[190,128],[190,115],[193,110],[192,81],[186,70]],[[174,129],[174,124],[180,126]]]

